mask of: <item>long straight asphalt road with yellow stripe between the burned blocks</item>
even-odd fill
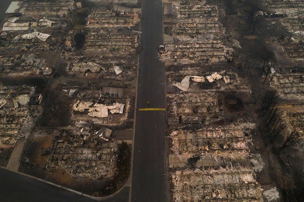
[[[137,109],[165,108],[164,63],[158,46],[163,44],[162,2],[142,2],[142,52],[139,58]],[[132,202],[166,202],[165,111],[136,111]]]

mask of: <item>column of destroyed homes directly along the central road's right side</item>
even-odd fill
[[[223,5],[207,2],[163,2],[171,201],[278,200],[275,184],[261,181],[268,162],[254,141],[252,90],[233,61],[239,41]]]

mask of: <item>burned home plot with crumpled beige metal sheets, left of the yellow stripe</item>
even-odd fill
[[[73,101],[72,120],[117,126],[131,121],[135,97],[124,96],[122,87],[65,87],[62,90]]]

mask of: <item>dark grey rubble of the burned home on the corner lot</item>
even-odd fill
[[[47,169],[92,179],[114,176],[117,143],[113,139],[105,141],[93,132],[61,131],[54,139]]]

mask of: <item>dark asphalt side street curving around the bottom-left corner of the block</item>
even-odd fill
[[[128,202],[129,187],[103,202]],[[96,200],[0,168],[1,202],[93,202]]]

